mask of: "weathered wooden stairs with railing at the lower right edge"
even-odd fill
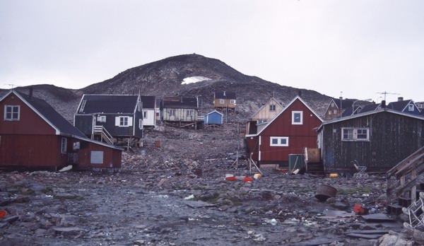
[[[386,178],[387,213],[406,213],[410,224],[420,224],[424,216],[424,147],[387,171]]]

